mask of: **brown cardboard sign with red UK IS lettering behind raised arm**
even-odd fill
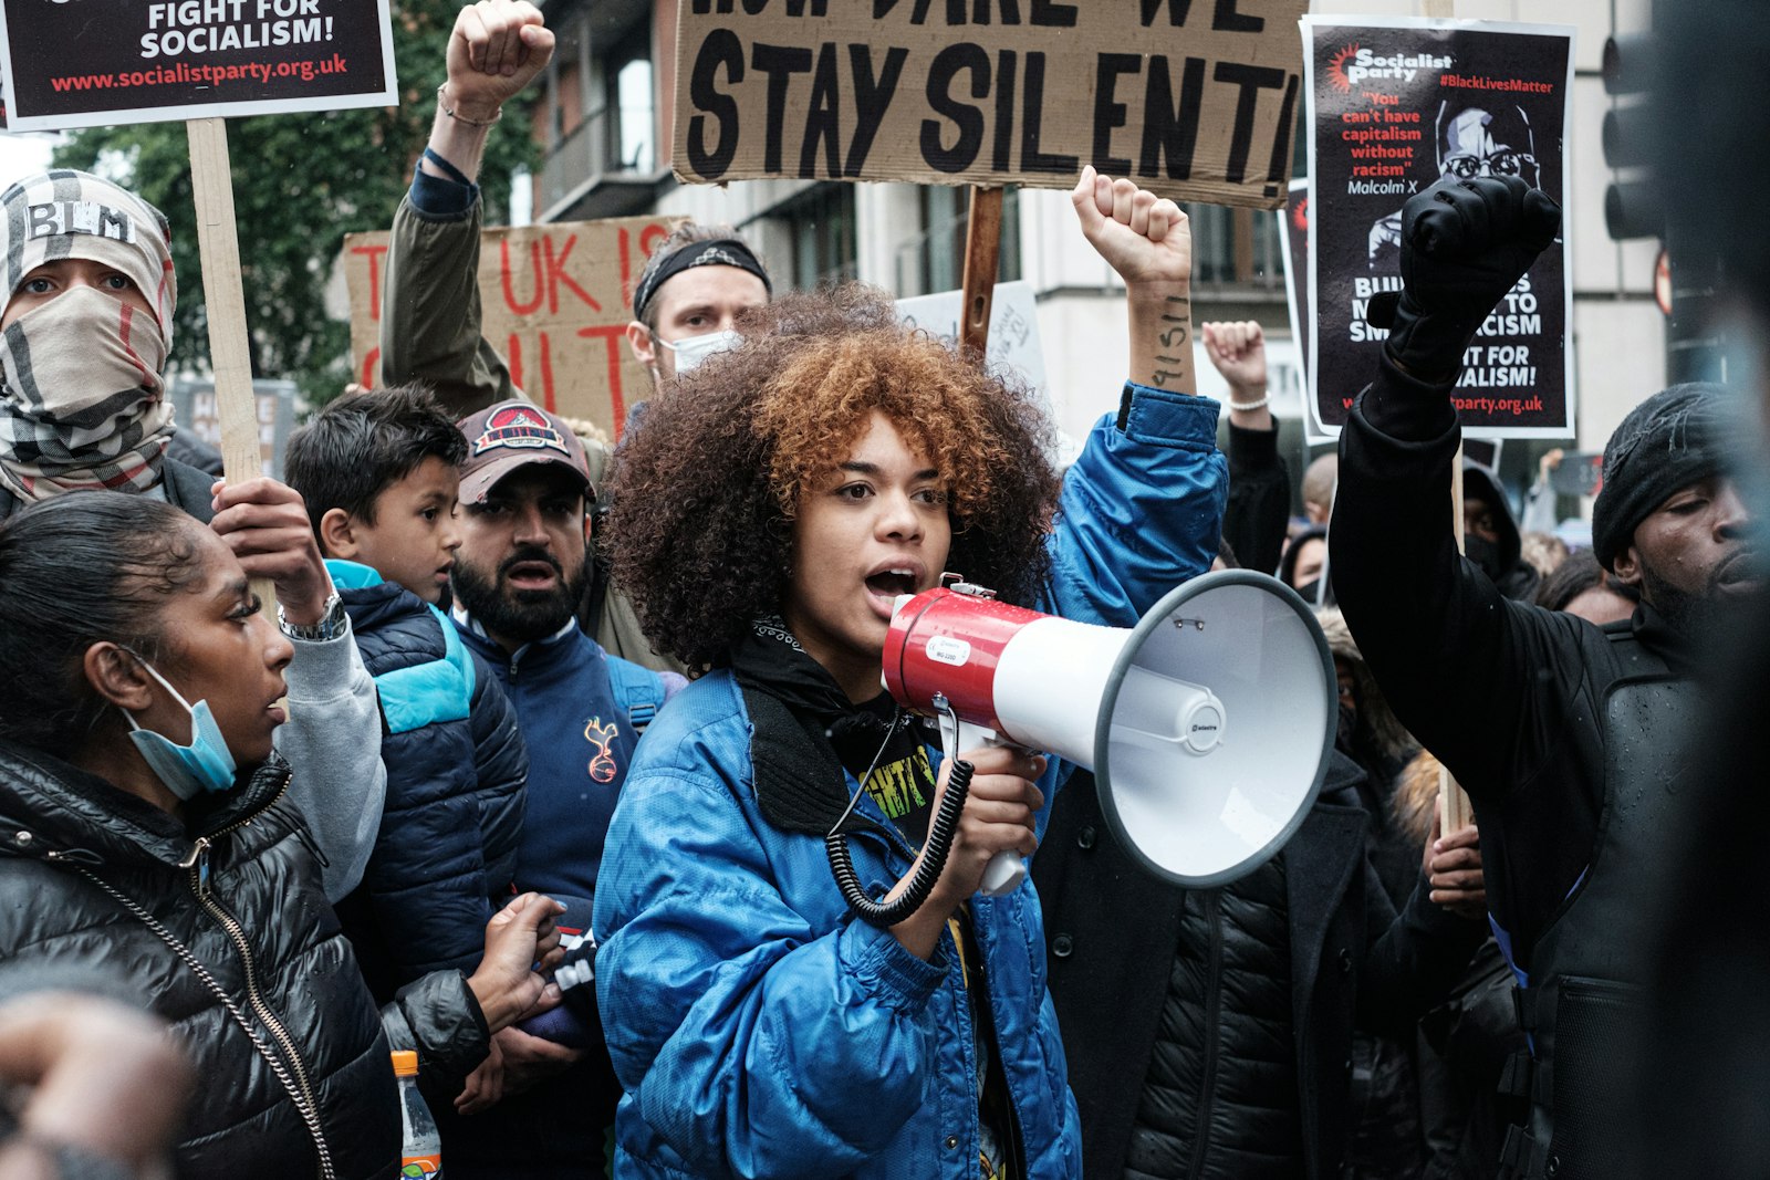
[[[588,418],[616,437],[651,377],[627,347],[634,283],[673,218],[556,221],[480,234],[480,331],[510,377],[543,409]],[[381,384],[381,281],[388,234],[350,234],[342,265],[350,287],[356,380]]]

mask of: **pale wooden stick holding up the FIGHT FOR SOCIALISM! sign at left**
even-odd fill
[[[246,288],[239,274],[239,234],[234,228],[234,173],[227,156],[227,120],[191,119],[191,189],[196,196],[196,249],[204,267],[204,310],[209,318],[209,364],[216,377],[221,419],[221,469],[228,483],[264,474],[258,449],[258,400],[251,391],[251,349],[246,340]],[[274,612],[269,579],[251,591]]]

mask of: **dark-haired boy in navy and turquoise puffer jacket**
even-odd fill
[[[515,877],[527,750],[435,607],[460,547],[466,449],[428,393],[393,387],[333,402],[285,460],[381,693],[388,803],[363,885],[338,904],[381,1001],[427,971],[471,969]]]

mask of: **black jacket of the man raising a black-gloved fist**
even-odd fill
[[[1528,968],[1591,863],[1604,699],[1625,662],[1600,628],[1504,598],[1457,554],[1446,502],[1460,437],[1450,387],[1384,359],[1340,435],[1333,584],[1395,715],[1469,793],[1489,908]],[[1611,626],[1690,669],[1651,607]]]

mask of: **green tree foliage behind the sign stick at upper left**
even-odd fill
[[[255,377],[294,379],[313,403],[329,402],[350,379],[350,329],[327,317],[324,290],[345,234],[393,223],[430,136],[457,11],[457,0],[395,0],[396,108],[228,119]],[[489,180],[485,202],[492,225],[504,219],[510,198],[508,184],[499,180],[536,163],[536,147],[524,127],[526,108],[512,103],[504,126],[487,145],[481,175]],[[76,131],[57,149],[55,163],[117,180],[172,221],[179,274],[172,364],[207,370],[209,329],[184,124]]]

